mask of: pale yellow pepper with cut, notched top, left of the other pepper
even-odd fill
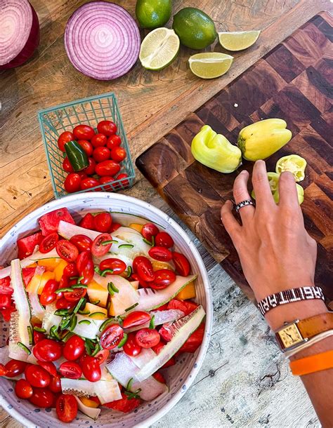
[[[233,173],[242,163],[242,152],[226,137],[217,134],[209,125],[202,126],[192,140],[193,157],[220,173]]]

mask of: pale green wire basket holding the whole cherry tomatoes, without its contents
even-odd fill
[[[72,132],[74,126],[79,124],[90,125],[96,130],[97,123],[100,121],[112,120],[115,122],[118,128],[117,134],[122,139],[122,147],[126,149],[126,159],[122,161],[119,173],[126,173],[128,177],[75,193],[117,192],[133,186],[135,180],[133,162],[131,161],[129,143],[114,93],[96,95],[95,97],[66,102],[62,105],[41,110],[38,112],[38,120],[41,135],[43,136],[48,169],[50,170],[53,193],[56,199],[67,194],[63,185],[67,176],[67,173],[63,170],[63,160],[66,154],[58,148],[58,137],[64,131]]]

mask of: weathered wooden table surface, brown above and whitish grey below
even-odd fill
[[[196,6],[218,30],[263,29],[259,42],[235,60],[221,79],[202,81],[188,69],[192,53],[158,73],[136,65],[117,81],[93,81],[67,60],[63,32],[71,13],[86,1],[31,0],[39,15],[41,44],[26,65],[0,73],[0,229],[53,198],[37,123],[37,111],[63,102],[114,91],[131,152],[138,154],[244,72],[328,0],[174,1],[174,11]],[[135,1],[117,1],[133,15]],[[148,182],[138,176],[126,194],[168,212]],[[180,222],[177,218],[176,221]],[[214,293],[214,330],[200,375],[157,427],[319,427],[301,382],[289,374],[273,335],[254,305],[200,246]],[[1,427],[21,427],[5,410]]]

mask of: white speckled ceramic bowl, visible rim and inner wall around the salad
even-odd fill
[[[176,366],[164,370],[166,382],[169,384],[169,394],[158,397],[150,403],[143,403],[133,413],[124,415],[104,408],[100,413],[97,421],[93,421],[85,415],[78,413],[71,427],[136,427],[149,426],[159,420],[181,399],[183,394],[192,384],[195,376],[200,370],[202,361],[207,352],[209,345],[209,335],[211,333],[212,323],[212,302],[211,290],[207,277],[207,271],[202,262],[202,258],[195,248],[194,243],[189,236],[177,225],[174,220],[169,218],[161,210],[151,206],[138,199],[124,196],[122,194],[107,194],[96,192],[91,194],[75,194],[66,196],[57,201],[51,201],[41,206],[37,210],[27,215],[23,220],[18,222],[0,241],[0,265],[4,265],[17,256],[16,241],[18,238],[25,236],[38,229],[38,219],[44,213],[57,208],[67,207],[72,213],[75,220],[79,220],[86,212],[96,212],[100,210],[110,210],[112,217],[119,219],[123,223],[129,221],[129,215],[141,216],[142,224],[145,219],[157,223],[174,238],[176,248],[184,253],[190,260],[193,272],[198,274],[196,281],[197,302],[200,303],[207,314],[206,330],[204,341],[200,349],[195,354],[183,354],[178,357]],[[127,215],[124,215],[127,213]],[[2,323],[0,326],[1,346],[5,345],[8,337],[8,325]],[[15,419],[27,427],[68,427],[68,424],[61,423],[55,415],[54,409],[35,408],[28,401],[20,400],[13,392],[13,382],[4,378],[0,379],[0,405],[10,413]]]

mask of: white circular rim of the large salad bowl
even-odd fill
[[[183,381],[183,384],[186,384],[185,390],[183,388],[180,388],[178,390],[178,392],[176,392],[176,394],[174,394],[174,396],[172,396],[171,399],[161,409],[157,410],[157,412],[154,415],[152,415],[152,416],[148,417],[147,419],[145,419],[144,421],[140,422],[140,424],[135,425],[136,427],[150,426],[151,424],[157,422],[161,417],[166,415],[166,413],[168,413],[171,410],[171,408],[173,408],[176,405],[176,403],[178,403],[178,401],[185,394],[185,392],[188,391],[193,380],[195,380],[195,377],[196,377],[197,373],[199,372],[199,370],[202,366],[202,363],[204,361],[204,356],[207,353],[207,349],[209,346],[209,339],[210,339],[210,335],[211,335],[211,328],[212,328],[212,323],[213,323],[213,302],[212,302],[212,297],[211,297],[211,286],[209,284],[207,269],[204,266],[204,262],[202,260],[202,257],[200,255],[199,251],[197,250],[197,248],[195,246],[195,243],[192,241],[192,239],[190,239],[190,236],[188,236],[188,234],[185,232],[185,230],[180,225],[178,225],[178,223],[175,220],[173,220],[169,215],[167,215],[162,210],[160,210],[159,208],[156,208],[155,206],[151,205],[148,202],[141,201],[141,199],[134,198],[133,196],[127,196],[127,195],[119,194],[119,193],[94,192],[93,194],[89,194],[89,195],[85,194],[85,193],[83,193],[83,194],[72,194],[69,196],[64,196],[61,199],[55,199],[53,201],[49,201],[47,203],[44,203],[44,205],[40,206],[39,208],[36,208],[31,213],[27,214],[24,218],[22,218],[22,220],[20,220],[18,223],[16,223],[13,227],[11,227],[11,229],[9,229],[8,232],[6,232],[6,234],[4,234],[4,236],[0,239],[1,246],[6,241],[8,241],[8,239],[11,238],[11,232],[13,232],[13,228],[20,229],[20,227],[23,227],[25,225],[25,223],[27,222],[27,219],[30,220],[36,216],[43,215],[46,210],[47,211],[51,210],[54,206],[58,207],[61,203],[63,203],[64,206],[66,206],[67,201],[75,201],[79,204],[80,201],[85,200],[85,199],[96,199],[97,201],[98,201],[98,199],[118,199],[119,201],[135,203],[137,206],[141,206],[141,208],[143,208],[144,210],[150,210],[153,213],[155,213],[156,215],[159,215],[166,222],[168,222],[169,225],[171,225],[171,227],[173,227],[173,229],[175,229],[175,232],[177,234],[179,234],[186,243],[188,243],[190,251],[194,255],[195,260],[197,262],[197,265],[200,269],[200,274],[202,276],[202,282],[204,285],[204,292],[205,292],[206,299],[207,299],[207,307],[205,309],[206,326],[205,326],[205,332],[204,332],[204,340],[203,340],[202,345],[200,347],[200,351],[197,354],[197,358],[195,359],[195,363],[193,364],[193,367],[190,370],[190,373],[188,373],[188,376]],[[96,207],[96,208],[98,208],[98,207]],[[56,209],[56,208],[54,208],[54,209]],[[111,211],[111,213],[112,213],[112,211]],[[16,410],[14,407],[8,408],[8,401],[6,401],[6,398],[2,394],[0,394],[0,405],[3,406],[4,410],[6,410],[11,416],[13,416],[15,418],[15,420],[18,420],[22,424],[25,424],[25,426],[27,426],[27,427],[36,427],[37,426],[36,424],[34,424],[32,422],[32,420],[23,416],[19,410]]]

